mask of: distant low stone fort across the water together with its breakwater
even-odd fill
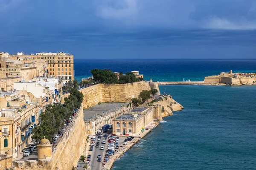
[[[204,77],[204,81],[158,82],[158,85],[256,85],[256,73],[222,72]]]

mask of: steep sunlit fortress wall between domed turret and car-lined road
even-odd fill
[[[64,136],[58,143],[56,150],[52,153],[51,170],[72,170],[76,167],[81,155],[84,155],[86,148],[86,124],[82,105],[72,123],[66,128]]]

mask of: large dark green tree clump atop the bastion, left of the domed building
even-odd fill
[[[93,74],[93,80],[98,83],[107,83],[113,84],[117,82],[117,76],[111,70],[101,70],[101,69],[93,69],[91,70]]]

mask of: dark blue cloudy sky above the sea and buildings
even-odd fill
[[[0,0],[0,51],[256,58],[256,0]]]

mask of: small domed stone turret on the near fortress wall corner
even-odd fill
[[[38,159],[46,159],[47,157],[52,157],[52,144],[48,139],[42,139],[39,144],[37,145],[38,147]]]

